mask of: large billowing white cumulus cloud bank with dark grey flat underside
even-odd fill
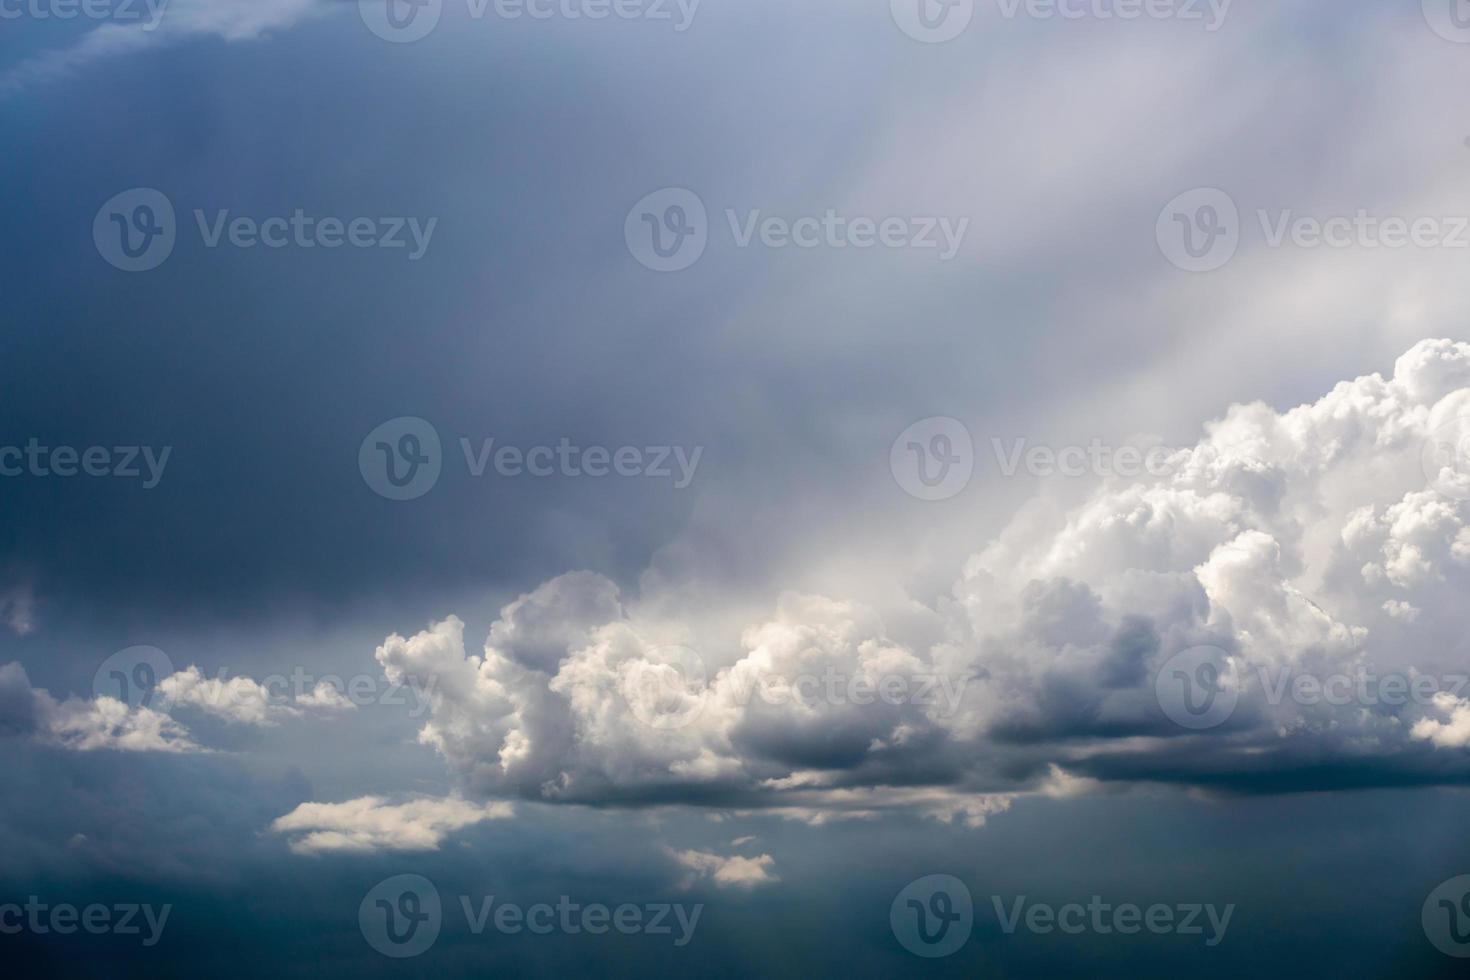
[[[501,610],[481,652],[451,616],[376,658],[394,683],[437,677],[419,738],[484,796],[979,824],[1011,793],[1110,782],[1464,782],[1466,419],[1452,341],[1288,411],[1232,406],[1164,476],[1035,500],[903,630],[784,594],[720,663],[678,644],[688,623],[641,614],[656,602],[573,572]],[[1210,730],[1157,686],[1197,648],[1238,699]],[[1377,696],[1364,679],[1385,674],[1444,689]],[[1302,676],[1354,693],[1307,696]]]

